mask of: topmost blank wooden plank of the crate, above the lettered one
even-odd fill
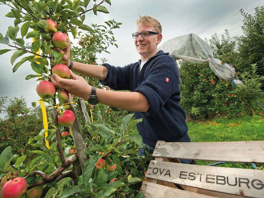
[[[158,141],[154,157],[264,163],[264,141],[164,142]]]

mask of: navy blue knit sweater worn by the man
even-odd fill
[[[103,64],[108,74],[100,83],[111,89],[137,91],[145,95],[149,111],[135,112],[135,118],[143,118],[137,128],[147,145],[155,147],[158,140],[190,142],[185,112],[179,105],[179,72],[175,61],[160,50],[147,60],[141,71],[140,62],[125,67]]]

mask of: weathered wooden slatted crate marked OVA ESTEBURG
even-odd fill
[[[177,163],[178,159],[264,163],[264,141],[158,141],[153,156],[148,182],[141,187],[145,197],[264,197],[263,170]]]

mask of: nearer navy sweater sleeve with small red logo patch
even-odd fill
[[[149,103],[147,114],[157,113],[173,94],[180,94],[179,73],[174,60],[157,61],[149,70],[146,80],[135,91],[146,96]]]

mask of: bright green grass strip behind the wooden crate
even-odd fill
[[[211,121],[191,121],[187,123],[192,142],[227,142],[264,140],[264,117],[243,116],[239,118],[216,118]],[[209,165],[212,161],[197,161]],[[251,164],[225,163],[221,167],[251,168]],[[264,166],[256,165],[264,170]]]

